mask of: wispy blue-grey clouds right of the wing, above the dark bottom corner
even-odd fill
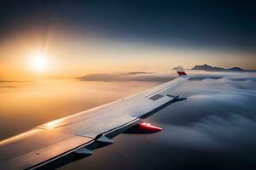
[[[165,129],[162,144],[229,153],[256,150],[255,77],[203,75],[173,93],[188,99],[157,116]]]

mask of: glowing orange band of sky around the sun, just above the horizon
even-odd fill
[[[34,52],[44,54],[47,69],[36,71]],[[14,35],[0,42],[0,78],[24,80],[40,77],[79,77],[88,73],[170,71],[174,66],[209,64],[256,69],[253,54],[200,48],[160,47],[139,42],[120,42],[102,37],[49,31]]]

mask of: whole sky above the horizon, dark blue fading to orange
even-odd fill
[[[1,1],[0,78],[205,63],[256,69],[255,7],[253,1]]]

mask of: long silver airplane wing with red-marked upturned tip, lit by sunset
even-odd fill
[[[67,156],[90,156],[91,150],[113,143],[112,138],[178,99],[172,90],[189,76],[179,77],[143,93],[57,119],[0,142],[1,169],[55,167]],[[66,161],[67,163],[67,161]]]

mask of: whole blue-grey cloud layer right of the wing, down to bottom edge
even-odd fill
[[[120,135],[95,156],[62,169],[256,168],[255,75],[207,73],[173,94],[188,99],[147,120],[163,127],[162,132]]]

